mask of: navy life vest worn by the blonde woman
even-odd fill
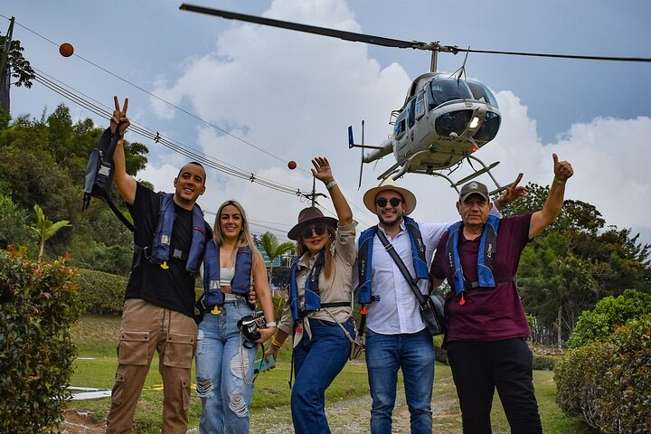
[[[231,292],[246,297],[252,283],[251,270],[253,254],[249,246],[238,248],[235,257],[235,274],[231,280]],[[210,241],[206,243],[203,257],[203,292],[207,307],[222,306],[223,293],[220,285],[219,246]]]

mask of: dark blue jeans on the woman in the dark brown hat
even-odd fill
[[[294,373],[291,410],[297,434],[329,433],[325,419],[325,389],[344,369],[350,342],[336,323],[309,319],[312,339],[303,335],[294,348]],[[343,323],[354,336],[353,320]]]

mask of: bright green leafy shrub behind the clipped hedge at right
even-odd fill
[[[569,348],[589,344],[612,333],[613,328],[651,313],[651,295],[627,289],[619,297],[604,297],[592,311],[584,310],[568,341]]]

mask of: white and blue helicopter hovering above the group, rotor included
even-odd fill
[[[490,194],[500,193],[507,188],[508,185],[499,184],[491,173],[491,169],[499,162],[486,165],[475,156],[479,148],[495,138],[502,117],[493,92],[481,82],[465,78],[465,65],[470,52],[599,61],[651,61],[651,59],[637,57],[476,50],[469,47],[459,48],[456,45],[443,45],[440,42],[401,41],[364,33],[238,14],[198,5],[183,4],[179,9],[297,32],[319,34],[345,41],[431,52],[429,72],[423,73],[413,80],[401,109],[392,110],[389,120],[392,133],[382,144],[379,146],[364,145],[363,121],[361,144],[354,143],[353,127],[348,127],[348,147],[362,148],[360,186],[364,164],[376,162],[384,156],[393,154],[395,163],[378,176],[377,179],[381,182],[389,177],[396,180],[408,173],[434,175],[446,179],[450,186],[458,192],[460,185],[466,184],[479,175],[487,174],[495,184],[495,189]],[[466,52],[466,59],[454,73],[437,71],[439,52],[453,54]],[[365,149],[371,149],[371,152],[364,154]],[[453,180],[450,175],[465,161],[474,172],[462,179]],[[473,162],[480,167],[475,168]],[[448,173],[443,173],[444,170],[448,170]]]

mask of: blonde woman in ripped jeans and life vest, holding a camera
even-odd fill
[[[248,433],[253,364],[258,345],[276,330],[264,259],[253,244],[240,203],[222,203],[214,224],[214,242],[203,259],[204,303],[196,350],[197,396],[202,400],[200,433]],[[255,291],[267,328],[253,343],[238,322],[250,316]]]

